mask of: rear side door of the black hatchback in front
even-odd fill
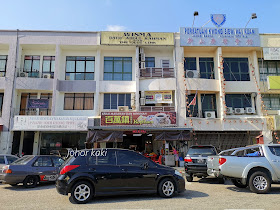
[[[94,154],[101,154],[95,150]],[[96,180],[96,193],[114,193],[121,191],[121,170],[116,165],[116,151],[107,150],[106,155],[88,156],[88,173]]]

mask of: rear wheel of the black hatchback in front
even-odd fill
[[[71,190],[70,200],[74,203],[84,204],[93,197],[93,187],[87,181],[77,182]]]

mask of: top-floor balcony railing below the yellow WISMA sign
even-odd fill
[[[145,78],[153,78],[153,77],[170,78],[170,77],[175,77],[174,68],[149,67],[149,68],[145,68],[145,69],[140,69],[140,77],[145,77]]]

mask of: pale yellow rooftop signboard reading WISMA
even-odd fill
[[[104,45],[174,45],[173,33],[101,32]]]

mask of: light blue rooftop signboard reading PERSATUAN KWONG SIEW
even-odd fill
[[[257,28],[180,28],[180,46],[260,47]]]

